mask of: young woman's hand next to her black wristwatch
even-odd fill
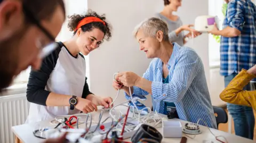
[[[98,110],[97,106],[94,103],[92,103],[88,99],[84,99],[81,97],[77,97],[77,104],[75,107],[84,113],[89,113],[93,112],[94,110]]]

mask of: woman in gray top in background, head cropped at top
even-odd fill
[[[181,6],[181,0],[164,0],[164,9],[162,12],[157,13],[156,17],[162,19],[167,23],[169,29],[169,40],[172,43],[177,43],[183,46],[188,38],[197,37],[201,35],[200,32],[192,29],[193,24],[183,25],[180,17],[173,15],[173,12],[177,12],[178,8]],[[183,32],[184,30],[189,31],[187,35]]]

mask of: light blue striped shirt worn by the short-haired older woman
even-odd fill
[[[163,83],[163,62],[159,58],[151,61],[143,74],[143,78],[152,81],[154,111],[163,114],[164,103],[173,102],[181,120],[196,123],[198,119],[203,119],[208,127],[217,129],[201,58],[189,47],[181,47],[177,43],[173,45],[173,53],[167,63],[169,83]],[[133,87],[133,95],[148,94],[141,88]],[[126,93],[125,97],[130,98]]]

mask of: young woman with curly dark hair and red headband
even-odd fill
[[[68,28],[74,32],[69,40],[58,42],[39,71],[31,71],[27,99],[31,103],[27,123],[97,111],[97,106],[109,107],[111,97],[101,98],[89,90],[85,77],[85,59],[98,48],[103,39],[111,38],[111,28],[105,15],[91,10],[69,16]],[[82,54],[81,54],[82,53]]]

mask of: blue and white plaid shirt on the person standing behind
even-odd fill
[[[221,37],[220,74],[227,76],[256,64],[256,7],[250,0],[233,0],[228,3],[223,28],[241,31],[237,37]]]

